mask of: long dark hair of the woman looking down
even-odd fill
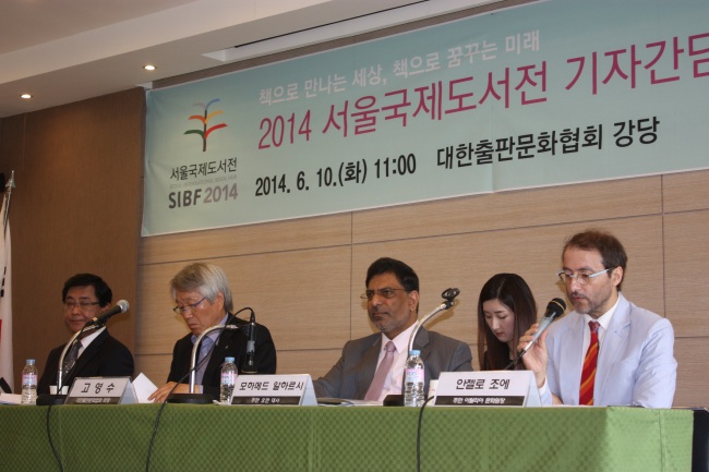
[[[517,274],[496,274],[482,286],[478,299],[478,359],[483,371],[502,371],[509,364],[509,347],[501,342],[485,323],[482,304],[498,300],[515,314],[513,346],[537,323],[537,302],[529,286]],[[524,368],[521,363],[517,366]]]

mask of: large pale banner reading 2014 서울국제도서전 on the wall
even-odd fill
[[[152,90],[142,234],[707,168],[708,19],[550,0]]]

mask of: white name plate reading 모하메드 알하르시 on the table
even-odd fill
[[[315,407],[315,389],[309,374],[240,375],[231,404],[284,404]]]

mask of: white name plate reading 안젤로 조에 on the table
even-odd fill
[[[541,407],[531,371],[443,372],[436,406]]]

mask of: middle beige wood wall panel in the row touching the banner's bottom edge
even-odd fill
[[[352,216],[352,241],[358,244],[657,215],[662,210],[661,196],[660,177],[648,177],[372,209]]]

